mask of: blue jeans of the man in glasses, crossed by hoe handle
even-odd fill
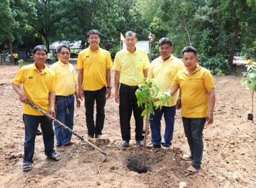
[[[75,97],[58,97],[56,96],[56,119],[65,126],[73,130]],[[72,133],[54,122],[56,146],[63,146],[70,142]]]

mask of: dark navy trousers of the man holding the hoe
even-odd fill
[[[53,121],[49,120],[45,115],[28,115],[23,114],[23,122],[25,124],[25,142],[24,142],[24,160],[23,162],[33,163],[34,156],[34,140],[36,131],[40,124],[42,130],[42,140],[44,140],[44,153],[51,156],[55,153]]]

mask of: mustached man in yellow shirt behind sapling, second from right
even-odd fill
[[[172,56],[172,41],[168,38],[159,40],[159,52],[161,56],[156,58],[150,64],[148,79],[155,79],[161,91],[166,91],[172,83],[174,76],[185,68],[183,62]],[[152,132],[152,143],[146,146],[147,148],[160,148],[161,144],[165,149],[170,149],[172,145],[172,136],[174,130],[174,116],[176,113],[176,104],[181,104],[181,98],[178,99],[179,93],[173,95],[172,100],[169,99],[169,105],[165,104],[162,109],[154,108],[154,115],[150,113],[150,128]],[[161,138],[161,120],[164,114],[165,132],[164,140]]]

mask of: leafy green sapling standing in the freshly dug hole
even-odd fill
[[[165,94],[165,95],[164,95]],[[172,99],[172,96],[169,92],[164,93],[164,91],[159,91],[158,84],[154,81],[154,79],[148,79],[144,81],[141,85],[139,85],[139,89],[135,92],[137,97],[137,104],[139,107],[143,108],[141,116],[145,116],[145,136],[144,136],[144,146],[143,146],[143,160],[142,160],[142,168],[145,167],[145,160],[146,160],[146,144],[147,144],[147,137],[148,137],[148,126],[150,124],[150,113],[154,114],[153,107],[162,107],[162,104],[168,104],[168,98]],[[155,102],[154,98],[159,97],[162,100],[162,103]]]

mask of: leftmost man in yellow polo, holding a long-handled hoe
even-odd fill
[[[34,64],[20,68],[13,79],[13,89],[18,93],[23,105],[23,121],[25,124],[23,171],[31,171],[34,156],[34,140],[40,124],[42,139],[44,140],[44,153],[53,160],[61,160],[55,152],[53,121],[46,115],[27,104],[27,100],[37,107],[55,117],[55,75],[46,68],[44,62],[47,58],[47,49],[43,45],[34,47]],[[20,85],[23,83],[23,89]]]

